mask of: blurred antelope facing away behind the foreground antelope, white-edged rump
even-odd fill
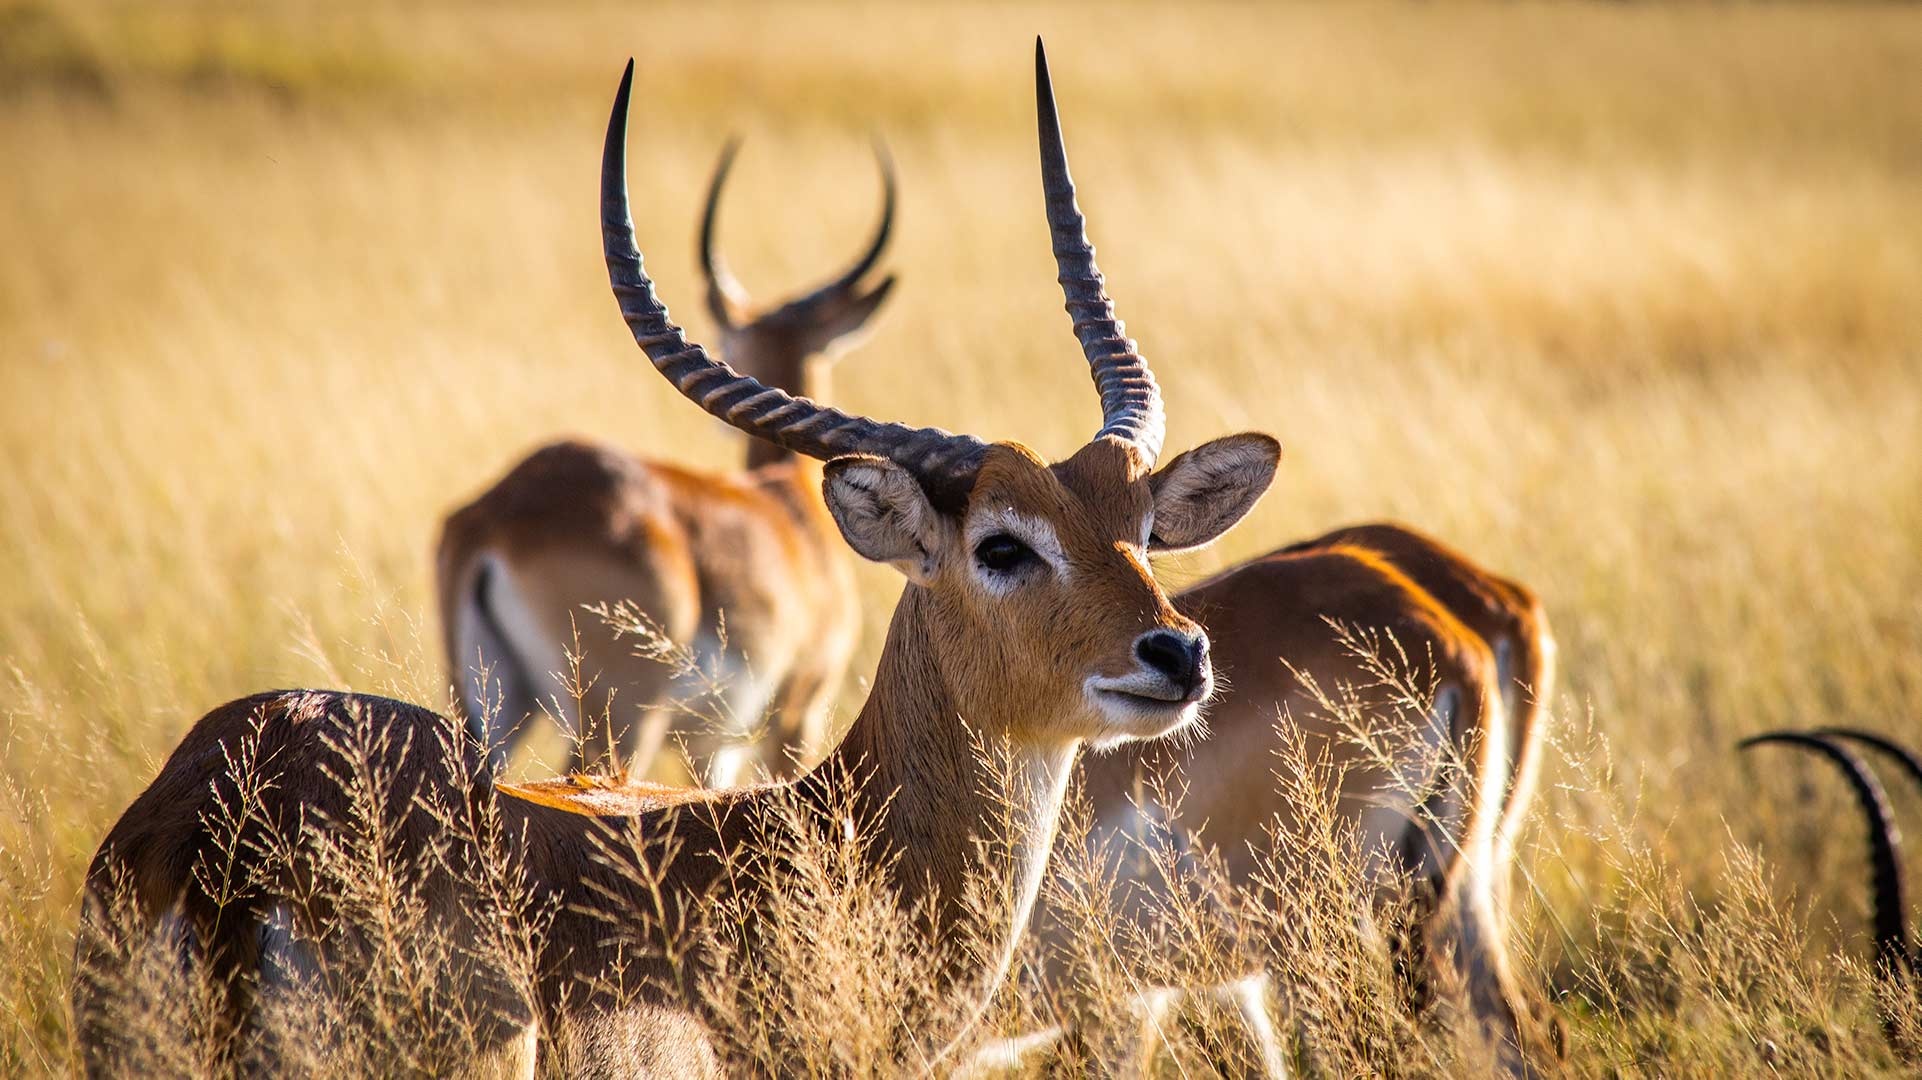
[[[721,152],[700,240],[721,352],[742,375],[821,402],[828,365],[894,286],[890,275],[861,288],[894,227],[894,165],[876,142],[884,194],[867,252],[821,288],[750,315],[715,252],[736,150]],[[744,771],[784,774],[788,753],[825,749],[861,630],[821,463],[765,440],[748,442],[744,473],[580,440],[544,446],[448,517],[436,575],[448,676],[496,763],[546,707],[575,736],[577,771],[609,723],[636,774],[669,734],[711,786]],[[677,655],[619,640],[586,611],[619,601]]]

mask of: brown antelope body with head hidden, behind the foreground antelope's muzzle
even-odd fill
[[[1386,888],[1413,878],[1424,894],[1407,942],[1417,1003],[1438,986],[1463,988],[1461,1003],[1505,1065],[1524,1070],[1524,1049],[1555,1040],[1511,972],[1503,909],[1513,830],[1540,753],[1536,715],[1553,678],[1553,638],[1536,598],[1415,530],[1367,525],[1242,563],[1174,603],[1209,630],[1228,690],[1209,707],[1207,738],[1084,761],[1092,840],[1122,851],[1130,836],[1138,842],[1144,828],[1167,822],[1199,836],[1247,888],[1265,861],[1290,857],[1270,828],[1295,834],[1297,807],[1278,796],[1276,776],[1288,767],[1278,757],[1286,730],[1309,761],[1328,765],[1340,790],[1326,796],[1359,826],[1376,880]],[[1359,657],[1353,638],[1388,653],[1393,678]],[[1490,642],[1503,642],[1526,684],[1505,673]],[[1411,692],[1424,690],[1428,717],[1405,717]],[[1180,799],[1157,805],[1155,792]],[[1124,894],[1169,888],[1140,859],[1115,867]],[[1040,924],[1061,955],[1065,920],[1044,911]],[[1247,990],[1238,994],[1236,1005],[1263,1030]],[[1265,1057],[1278,1061],[1280,1051],[1265,1047]]]

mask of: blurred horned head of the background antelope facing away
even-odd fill
[[[721,161],[707,184],[707,208],[702,211],[702,277],[707,279],[707,313],[721,329],[721,354],[742,375],[819,396],[817,390],[803,388],[809,382],[809,365],[826,363],[851,348],[894,288],[894,275],[882,277],[873,288],[861,288],[861,281],[880,261],[894,233],[894,161],[876,138],[875,160],[880,163],[882,204],[880,225],[875,227],[867,252],[834,281],[778,307],[755,311],[748,290],[728,271],[715,246],[721,190],[727,186],[736,152],[740,140],[730,138],[721,150]]]

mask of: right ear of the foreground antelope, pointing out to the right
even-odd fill
[[[1151,552],[1188,552],[1213,544],[1274,480],[1282,444],[1259,432],[1203,442],[1174,457],[1147,484],[1155,492]]]

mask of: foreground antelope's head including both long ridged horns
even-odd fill
[[[607,127],[602,233],[621,313],[655,369],[715,417],[828,461],[823,494],[848,544],[909,580],[888,651],[913,657],[915,678],[934,682],[928,696],[986,734],[1107,746],[1197,717],[1213,690],[1207,634],[1169,603],[1147,557],[1197,548],[1240,521],[1274,479],[1280,444],[1219,438],[1157,469],[1161,392],[1096,269],[1040,42],[1034,60],[1047,225],[1103,415],[1065,461],[850,415],[692,344],[634,246],[625,181],[632,63]],[[882,676],[875,692],[886,692]]]

